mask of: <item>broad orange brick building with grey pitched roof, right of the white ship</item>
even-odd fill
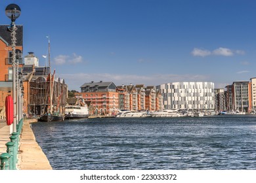
[[[91,101],[90,114],[117,114],[119,92],[113,82],[92,81],[80,88],[81,93],[75,93],[75,97],[83,98],[85,102]]]

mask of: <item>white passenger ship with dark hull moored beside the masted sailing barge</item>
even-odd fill
[[[88,116],[89,109],[86,104],[84,106],[67,105],[65,107],[65,119],[88,118]]]

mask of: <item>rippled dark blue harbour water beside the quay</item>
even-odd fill
[[[53,169],[256,169],[256,115],[32,125]]]

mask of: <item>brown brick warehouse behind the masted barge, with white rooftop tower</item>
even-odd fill
[[[24,66],[22,74],[24,76],[24,113],[29,116],[41,116],[49,110],[50,98],[50,67],[37,67],[39,59],[29,52],[24,57]],[[55,73],[55,72],[54,72]],[[51,74],[52,78],[52,107],[53,112],[64,112],[66,99],[68,96],[68,86],[64,79],[56,78]]]

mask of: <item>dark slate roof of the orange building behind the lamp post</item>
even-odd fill
[[[0,25],[0,37],[11,45],[11,31],[7,28],[9,25]],[[16,46],[23,46],[23,25],[16,25]]]

